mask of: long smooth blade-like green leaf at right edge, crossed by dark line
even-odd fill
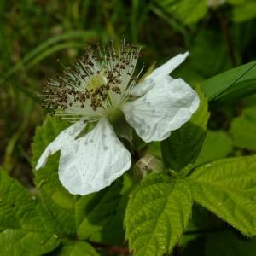
[[[256,61],[232,68],[224,73],[204,81],[201,86],[213,106],[218,105],[218,101],[225,97],[225,103],[234,100],[236,97],[246,96],[256,91]],[[242,88],[242,89],[241,89]],[[237,93],[239,91],[239,93]],[[230,96],[230,98],[229,98]],[[221,102],[223,103],[223,102]],[[214,105],[215,104],[215,105]]]

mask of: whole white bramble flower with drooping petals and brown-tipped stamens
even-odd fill
[[[134,70],[139,49],[122,42],[119,54],[113,44],[91,49],[67,69],[59,80],[49,80],[44,105],[75,123],[44,150],[36,169],[61,150],[59,177],[72,194],[87,195],[109,186],[131,166],[131,154],[116,137],[108,119],[122,111],[127,122],[145,142],[161,141],[187,122],[199,106],[199,98],[183,79],[169,73],[188,53],[179,54],[137,83]],[[89,122],[95,128],[78,137]]]

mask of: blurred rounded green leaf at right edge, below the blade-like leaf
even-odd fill
[[[256,106],[245,108],[241,116],[232,120],[230,134],[238,148],[256,150]]]

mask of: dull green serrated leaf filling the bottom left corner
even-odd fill
[[[60,243],[55,220],[20,183],[0,172],[0,255],[36,256]]]

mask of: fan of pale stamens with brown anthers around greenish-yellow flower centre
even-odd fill
[[[44,84],[43,107],[52,113],[58,109],[73,114],[81,114],[81,108],[114,108],[114,95],[124,100],[127,90],[137,83],[138,76],[133,77],[133,73],[139,51],[125,44],[125,39],[118,54],[113,42],[105,47],[96,44],[96,49],[88,47],[73,69],[66,68],[63,76]]]

